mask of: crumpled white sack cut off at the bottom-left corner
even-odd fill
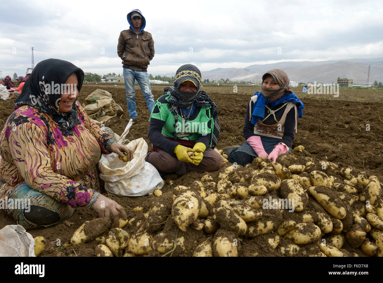
[[[34,239],[21,225],[0,230],[0,257],[34,257]]]

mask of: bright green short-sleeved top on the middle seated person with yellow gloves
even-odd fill
[[[170,98],[170,93],[168,92],[167,94],[162,95],[161,97],[165,96],[165,100],[168,102]],[[214,127],[214,119],[210,118],[211,113],[210,109],[211,106],[208,107],[201,107],[200,112],[198,113],[197,117],[194,120],[187,120],[187,121],[182,121],[182,117],[178,114],[177,117],[177,124],[174,125],[175,119],[174,119],[174,114],[170,112],[169,107],[166,103],[161,103],[159,100],[154,104],[154,108],[157,106],[160,110],[158,113],[153,113],[150,115],[149,121],[151,118],[156,118],[158,120],[164,121],[164,126],[162,127],[161,134],[164,137],[167,138],[175,138],[174,134],[177,133],[177,140],[190,140],[190,141],[195,141],[198,138],[198,134],[202,135],[207,135],[209,133],[213,133],[213,127]],[[206,115],[206,109],[208,110],[209,116]],[[208,127],[208,122],[211,120],[211,125],[212,127]],[[213,135],[211,135],[213,139]],[[210,142],[211,145],[211,142]]]

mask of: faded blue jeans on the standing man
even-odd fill
[[[134,99],[134,79],[136,79],[141,87],[142,93],[144,94],[146,100],[147,109],[149,110],[149,114],[151,114],[154,107],[154,95],[152,94],[152,88],[150,87],[147,72],[134,71],[129,68],[123,69],[129,118],[137,117],[136,100]]]

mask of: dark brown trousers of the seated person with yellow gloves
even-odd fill
[[[201,163],[198,165],[179,161],[176,157],[160,148],[157,148],[157,151],[148,152],[145,161],[151,163],[159,172],[175,173],[177,175],[183,175],[190,171],[197,171],[198,173],[213,172],[219,170],[222,166],[221,155],[212,148],[206,148]]]

